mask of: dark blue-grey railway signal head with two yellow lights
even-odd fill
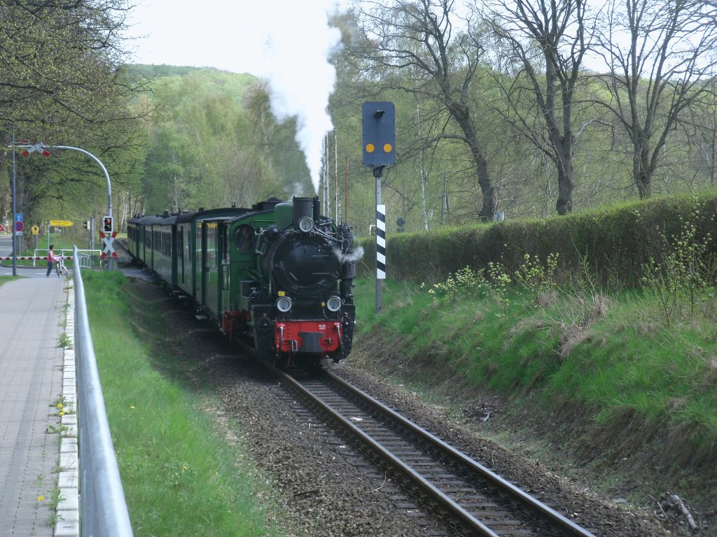
[[[396,163],[396,108],[392,102],[364,102],[364,166]]]

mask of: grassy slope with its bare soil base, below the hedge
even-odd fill
[[[678,296],[668,318],[657,292],[512,281],[471,271],[437,286],[388,280],[379,316],[374,282],[357,281],[361,361],[376,360],[378,337],[372,367],[432,402],[445,398],[457,415],[472,397],[500,394],[491,424],[527,427],[594,470],[644,470],[649,485],[714,505],[714,289],[694,302]]]

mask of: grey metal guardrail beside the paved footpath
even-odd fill
[[[75,259],[75,361],[80,435],[80,536],[132,537],[87,319],[80,253]]]

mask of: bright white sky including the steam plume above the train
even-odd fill
[[[318,191],[323,138],[333,130],[328,57],[341,34],[338,0],[137,0],[126,36],[143,64],[216,67],[267,79],[277,120],[297,118],[297,142]]]

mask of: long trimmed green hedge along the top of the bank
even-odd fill
[[[490,261],[514,271],[526,253],[541,261],[549,253],[559,253],[559,279],[579,271],[581,258],[587,256],[590,270],[600,283],[617,280],[635,285],[640,281],[642,264],[650,257],[660,258],[665,240],[671,242],[679,235],[682,221],[690,219],[697,203],[703,204],[695,221],[700,236],[711,233],[714,238],[716,193],[624,203],[554,218],[397,233],[386,243],[387,277],[442,281],[465,266],[480,269]],[[365,239],[362,246],[359,274],[371,275],[376,258],[374,238]],[[716,249],[711,241],[709,253]]]

